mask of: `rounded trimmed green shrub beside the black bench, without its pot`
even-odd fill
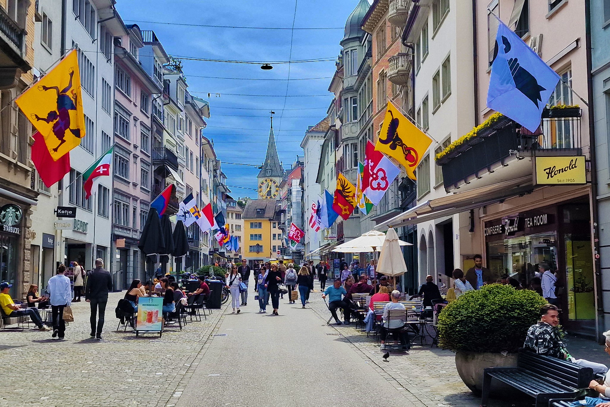
[[[547,301],[532,290],[490,284],[470,291],[439,314],[439,346],[453,351],[516,352]]]

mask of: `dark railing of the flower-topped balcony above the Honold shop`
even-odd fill
[[[504,165],[511,156],[580,155],[580,117],[580,109],[559,113],[545,110],[540,127],[534,133],[502,117],[492,128],[480,131],[476,137],[437,161],[442,167],[445,189],[452,189],[472,176],[478,178],[483,171],[494,171],[494,167],[499,163]]]

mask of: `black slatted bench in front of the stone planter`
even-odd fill
[[[483,375],[481,406],[486,406],[492,379],[500,380],[536,399],[536,407],[551,399],[573,400],[578,389],[589,387],[593,370],[550,356],[519,350],[517,367],[488,367]]]

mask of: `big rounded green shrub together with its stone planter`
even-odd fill
[[[490,284],[467,292],[443,309],[439,346],[456,353],[456,368],[470,390],[481,392],[486,367],[517,366],[517,350],[546,303],[534,291]],[[492,388],[494,393],[500,390],[499,383]]]

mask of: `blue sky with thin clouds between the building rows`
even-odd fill
[[[344,27],[358,0],[300,0],[295,27]],[[144,6],[143,4],[146,4]],[[179,7],[176,5],[179,4]],[[159,23],[210,24],[217,26],[291,27],[295,1],[165,1],[118,0],[117,9],[126,24],[152,29],[171,56],[223,60],[285,61],[336,58],[343,29],[291,30],[235,29],[178,26]],[[155,23],[144,23],[150,21]],[[328,92],[334,60],[290,64],[290,78],[322,77],[303,81],[251,81],[215,77],[287,79],[289,65],[274,65],[263,71],[259,65],[183,60],[188,90],[210,101],[211,117],[204,130],[213,139],[224,162],[260,165],[265,158],[269,134],[269,112],[274,110],[274,133],[284,168],[296,155],[303,155],[300,142],[308,125],[325,117],[332,100]],[[201,77],[205,76],[205,77]],[[288,97],[288,95],[324,95]],[[207,93],[212,93],[210,98]],[[220,93],[220,97],[215,97]],[[273,96],[232,96],[227,93]],[[285,104],[285,105],[284,105]],[[285,110],[282,110],[285,109]],[[258,169],[223,164],[232,195],[256,197]]]

